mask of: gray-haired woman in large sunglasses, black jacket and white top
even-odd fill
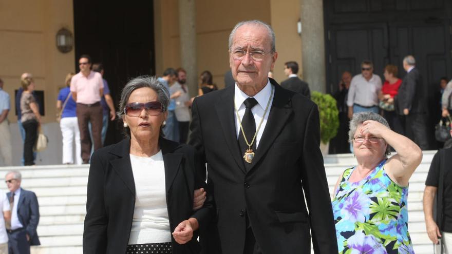
[[[124,87],[118,116],[128,138],[91,158],[85,254],[200,252],[194,232],[210,220],[212,200],[193,210],[204,165],[194,148],[163,137],[169,102],[155,77],[140,76]]]

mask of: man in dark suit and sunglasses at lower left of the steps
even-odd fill
[[[21,188],[20,172],[8,172],[5,180],[10,191],[6,195],[11,204],[11,225],[6,230],[9,254],[29,254],[30,245],[41,245],[36,233],[39,222],[37,198],[34,192]]]

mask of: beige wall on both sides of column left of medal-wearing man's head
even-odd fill
[[[177,68],[180,61],[180,38],[177,0],[156,0],[155,38],[156,72],[167,67]],[[270,0],[258,1],[196,1],[197,75],[209,70],[214,83],[224,87],[224,73],[229,68],[228,36],[240,21],[260,19],[271,23]]]

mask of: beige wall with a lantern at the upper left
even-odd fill
[[[43,122],[55,121],[59,88],[75,69],[74,51],[56,49],[55,35],[63,27],[74,30],[72,0],[0,0],[0,77],[11,96],[9,121],[17,121],[14,90],[23,72],[31,72],[36,90],[45,91]]]

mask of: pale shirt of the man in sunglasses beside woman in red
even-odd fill
[[[347,106],[358,104],[364,107],[378,106],[378,92],[382,88],[379,75],[372,74],[370,80],[366,80],[363,74],[353,77],[348,89]]]

